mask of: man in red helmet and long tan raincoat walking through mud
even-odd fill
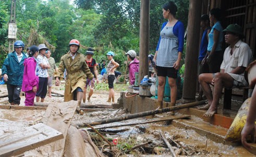
[[[78,107],[81,106],[83,87],[86,86],[87,78],[90,80],[93,78],[93,74],[85,62],[86,57],[78,53],[79,47],[78,40],[74,39],[69,42],[70,50],[60,58],[57,74],[54,75],[55,85],[59,86],[59,78],[65,69],[67,70],[64,101],[77,100]]]

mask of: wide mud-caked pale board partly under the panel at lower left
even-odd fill
[[[77,108],[77,101],[55,102],[47,107],[42,122],[59,132],[64,136],[63,139],[52,142],[48,145],[25,152],[25,156],[59,156],[62,157],[65,149],[65,141],[72,117]]]

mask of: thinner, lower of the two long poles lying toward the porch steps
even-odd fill
[[[122,127],[122,126],[130,126],[130,125],[138,125],[138,124],[147,124],[147,123],[155,123],[155,122],[162,122],[162,121],[172,121],[172,120],[178,120],[178,119],[190,119],[190,115],[181,115],[181,116],[175,116],[175,117],[167,117],[164,119],[157,119],[157,120],[150,120],[145,122],[132,122],[127,124],[114,124],[109,126],[101,126],[101,127],[94,127],[95,129],[105,129],[105,128],[112,128],[112,127]],[[91,128],[87,128],[88,131],[91,130]]]

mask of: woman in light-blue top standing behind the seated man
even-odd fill
[[[213,27],[208,34],[209,43],[207,47],[208,51],[208,64],[209,64],[209,72],[216,73],[220,72],[221,63],[223,60],[222,51],[222,41],[223,41],[223,33],[222,33],[222,25],[220,22],[221,18],[221,9],[213,8],[210,11],[209,15],[211,23],[213,23]]]

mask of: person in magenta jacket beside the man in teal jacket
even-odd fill
[[[25,106],[34,106],[34,98],[38,90],[38,69],[36,68],[36,58],[39,55],[37,46],[31,46],[29,49],[29,58],[24,61],[24,74],[22,80],[22,91],[26,93]]]

